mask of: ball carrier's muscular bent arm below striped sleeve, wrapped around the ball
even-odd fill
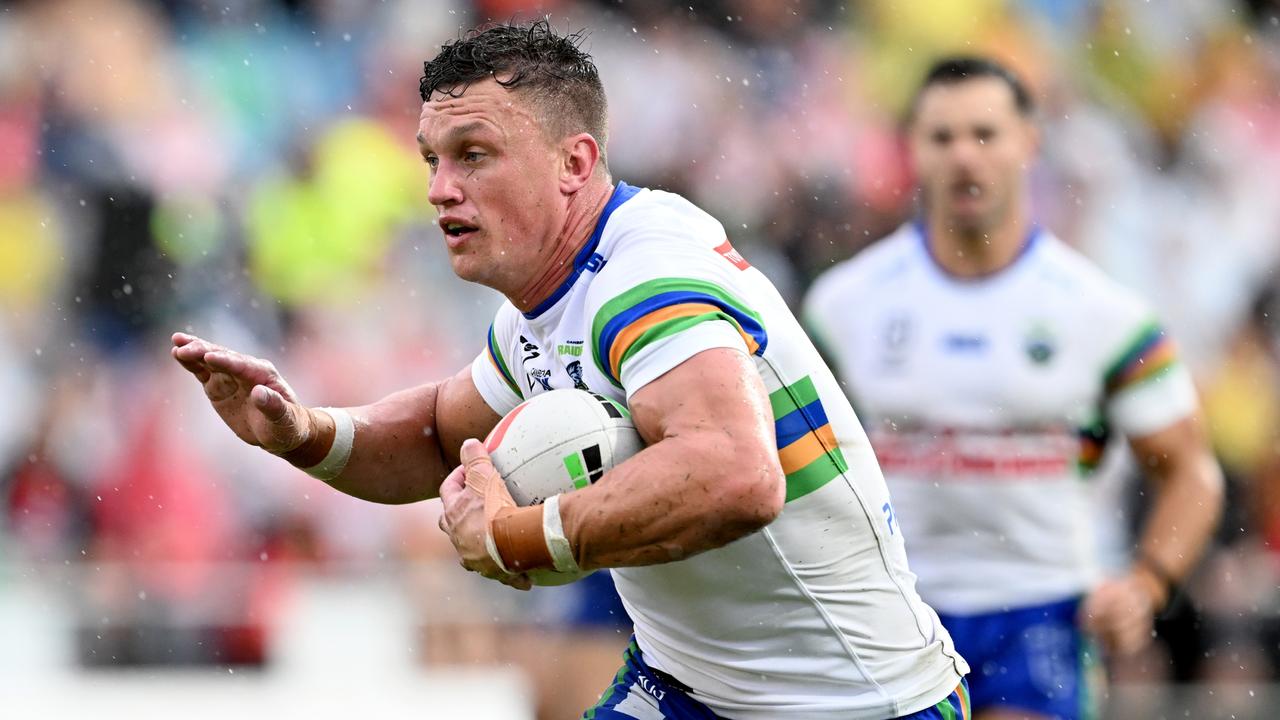
[[[727,544],[769,524],[786,495],[759,374],[736,350],[707,350],[636,392],[649,443],[561,498],[579,566],[653,565]]]

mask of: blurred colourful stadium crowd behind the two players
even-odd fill
[[[1038,218],[1161,309],[1230,482],[1110,715],[1274,716],[1274,0],[0,1],[0,714],[567,717],[612,676],[622,635],[580,588],[476,582],[436,503],[238,446],[166,352],[195,331],[324,405],[468,361],[498,297],[444,260],[417,76],[540,12],[589,28],[614,177],[710,210],[791,300],[910,215],[896,118],[933,56],[1023,73]],[[1142,492],[1112,470],[1123,565]]]

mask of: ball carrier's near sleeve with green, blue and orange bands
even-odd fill
[[[721,286],[658,278],[604,302],[591,323],[596,366],[630,396],[692,355],[712,347],[763,355],[760,315]]]

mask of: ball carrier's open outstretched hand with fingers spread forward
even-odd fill
[[[283,454],[315,432],[311,413],[269,361],[187,333],[173,334],[170,354],[200,380],[214,410],[242,441]]]

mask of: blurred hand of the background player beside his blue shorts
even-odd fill
[[[1140,569],[1100,584],[1080,606],[1080,626],[1094,634],[1111,656],[1133,655],[1151,642],[1162,587]]]

